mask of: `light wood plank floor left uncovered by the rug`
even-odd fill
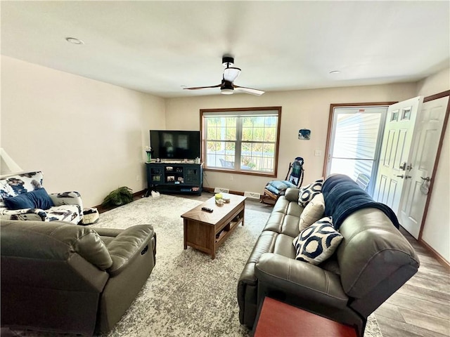
[[[206,200],[213,194],[183,196]],[[272,206],[247,199],[245,207],[270,213]],[[436,260],[416,239],[401,229],[416,250],[420,267],[396,293],[375,310],[383,337],[450,336],[450,271]]]

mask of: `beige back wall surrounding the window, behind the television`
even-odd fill
[[[172,98],[167,99],[166,121],[167,128],[198,130],[200,109],[281,106],[278,178],[285,178],[289,162],[300,156],[304,158],[304,183],[309,183],[322,175],[331,103],[400,101],[415,95],[416,84],[409,83],[281,91],[264,93],[262,96],[240,93]],[[298,140],[300,128],[311,129],[311,140]],[[314,150],[321,150],[322,155],[314,157]],[[205,187],[226,187],[239,192],[262,193],[269,180],[271,178],[207,171],[203,183]]]

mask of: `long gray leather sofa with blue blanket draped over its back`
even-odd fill
[[[342,204],[357,204],[346,191],[356,188],[352,184],[341,184],[331,209],[323,193],[326,216],[339,216]],[[355,326],[363,336],[368,315],[417,272],[418,257],[385,212],[364,206],[342,217],[343,239],[328,260],[319,265],[296,260],[293,239],[304,209],[298,198],[299,190],[289,188],[278,199],[240,275],[240,323],[252,328],[264,296],[270,296]]]

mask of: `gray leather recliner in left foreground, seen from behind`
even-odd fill
[[[151,225],[1,220],[1,326],[92,335],[120,320],[155,266]]]

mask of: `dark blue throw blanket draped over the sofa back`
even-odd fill
[[[333,225],[339,230],[342,222],[359,209],[374,208],[383,211],[397,229],[399,220],[389,206],[376,202],[349,176],[333,174],[326,178],[322,186],[325,200],[325,216],[333,217]]]

